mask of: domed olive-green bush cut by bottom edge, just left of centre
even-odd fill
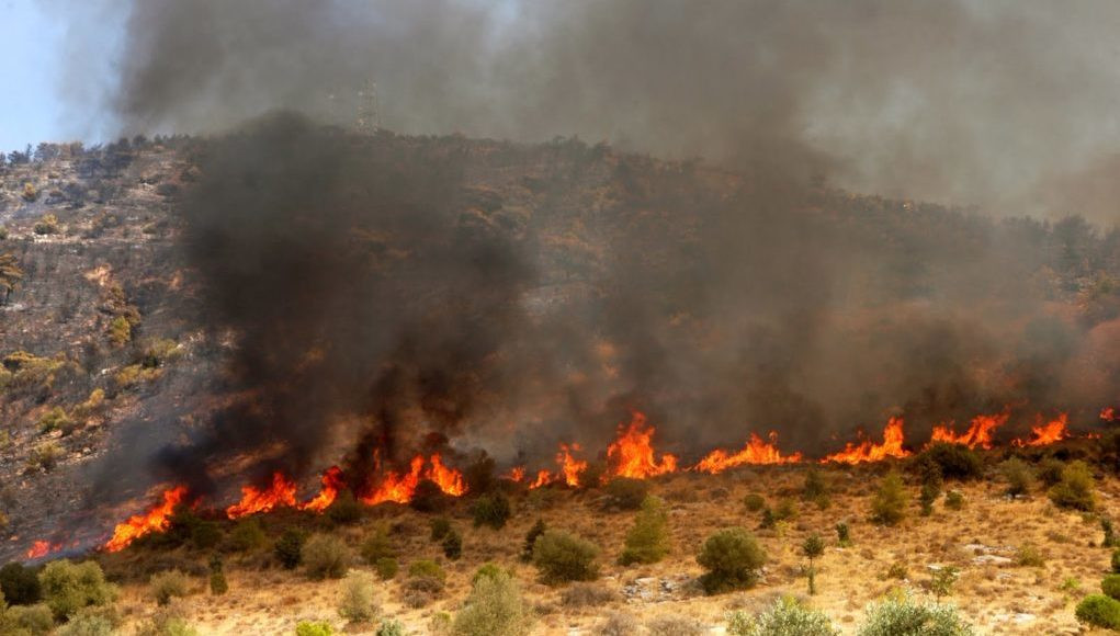
[[[455,615],[457,636],[522,636],[529,634],[533,612],[517,582],[505,572],[475,580],[463,609]]]

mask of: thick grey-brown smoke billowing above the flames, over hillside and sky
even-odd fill
[[[1090,343],[1114,315],[1063,315],[1046,272],[1088,280],[1055,254],[1107,263],[1114,237],[822,185],[1073,200],[1110,174],[1111,3],[122,7],[122,129],[216,133],[178,212],[232,405],[159,456],[175,478],[264,449],[305,474],[337,440],[361,470],[430,433],[540,457],[632,408],[688,451],[769,428],[812,451],[895,413],[1113,398]],[[398,131],[732,171],[312,123],[348,122],[370,80]],[[243,123],[274,109],[310,119]],[[1079,200],[1113,221],[1109,191]]]

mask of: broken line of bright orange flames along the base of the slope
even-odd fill
[[[1114,422],[1120,420],[1113,408],[1107,408],[1100,413],[1101,420]],[[968,448],[990,449],[995,446],[995,432],[1010,419],[1005,411],[998,414],[977,415],[967,430],[956,432],[953,422],[934,427],[928,445],[936,442],[955,443]],[[904,448],[905,436],[902,418],[890,418],[883,431],[883,441],[875,442],[860,439],[848,442],[844,448],[819,459],[821,464],[864,464],[886,459],[909,457],[912,451]],[[526,467],[516,466],[503,477],[511,481],[523,484],[530,489],[548,485],[568,487],[590,486],[592,479],[606,481],[615,477],[647,479],[681,470],[707,473],[716,475],[738,466],[786,465],[808,461],[801,452],[783,455],[777,446],[777,433],[769,432],[766,439],[752,433],[743,449],[729,451],[717,449],[704,456],[698,464],[680,468],[679,460],[670,453],[659,453],[653,446],[656,430],[646,422],[643,413],[635,412],[627,424],[619,425],[618,436],[607,447],[607,469],[600,477],[588,473],[589,460],[578,456],[582,447],[578,443],[561,443],[557,452],[557,469],[540,469],[532,477]],[[862,436],[861,436],[862,437]],[[1060,413],[1051,420],[1038,418],[1032,427],[1030,436],[1015,439],[1010,443],[1016,448],[1040,447],[1052,445],[1073,437],[1068,430],[1068,418]],[[1090,437],[1096,437],[1091,434]],[[379,476],[373,487],[355,492],[356,498],[366,505],[385,502],[407,504],[412,501],[421,481],[435,484],[445,495],[459,497],[467,493],[467,485],[460,471],[447,466],[442,456],[433,453],[428,457],[418,455],[409,462],[407,470],[389,470],[382,466],[379,453],[374,455],[374,473]],[[248,515],[271,512],[278,508],[291,508],[311,513],[325,512],[349,486],[343,470],[337,466],[328,468],[320,478],[320,489],[311,498],[300,502],[297,497],[297,484],[283,475],[274,473],[267,487],[244,486],[242,497],[237,503],[225,508],[227,518],[235,520]],[[147,513],[130,517],[118,524],[112,536],[102,545],[108,552],[118,552],[129,546],[133,541],[147,534],[164,532],[170,527],[170,517],[179,505],[199,506],[197,498],[192,498],[186,486],[174,486],[165,490],[160,502]],[[62,549],[62,543],[36,541],[27,551],[28,559],[40,559]]]

